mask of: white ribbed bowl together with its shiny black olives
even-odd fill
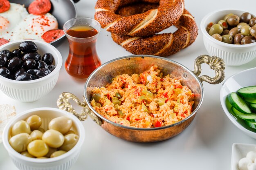
[[[34,102],[55,86],[61,53],[38,40],[18,40],[0,46],[0,90],[20,102]]]

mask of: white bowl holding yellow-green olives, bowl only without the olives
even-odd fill
[[[79,140],[74,148],[61,156],[48,159],[29,158],[16,152],[9,144],[10,128],[17,121],[25,120],[27,117],[35,114],[42,118],[41,127],[44,129],[47,129],[49,121],[51,121],[55,117],[66,116],[72,119],[72,130],[74,130],[79,135]],[[81,147],[85,138],[85,130],[79,119],[64,110],[60,110],[57,108],[35,108],[20,113],[16,115],[16,117],[11,119],[9,123],[5,126],[2,137],[4,147],[9,153],[13,163],[20,170],[67,170],[72,166],[73,163],[75,163],[80,154]]]

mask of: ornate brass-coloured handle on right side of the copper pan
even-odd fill
[[[195,75],[199,76],[201,74],[202,68],[201,64],[206,63],[210,66],[211,69],[215,71],[215,77],[209,77],[208,75],[202,75],[198,77],[201,82],[207,82],[210,84],[219,84],[225,78],[225,62],[220,57],[209,56],[209,55],[200,55],[195,59],[194,68]]]

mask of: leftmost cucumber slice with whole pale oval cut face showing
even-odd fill
[[[245,101],[243,101],[243,99],[238,94],[234,92],[229,93],[229,95],[227,95],[227,99],[236,110],[245,114],[252,113],[252,110],[249,108],[249,106],[245,103]]]

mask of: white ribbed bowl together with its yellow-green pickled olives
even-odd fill
[[[85,138],[81,121],[57,108],[27,110],[11,119],[3,144],[20,170],[67,170]]]

